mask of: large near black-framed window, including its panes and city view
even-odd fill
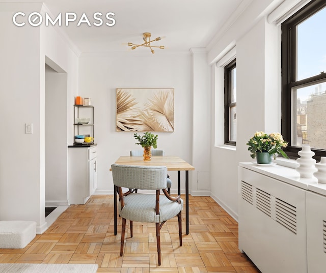
[[[313,0],[282,23],[282,134],[296,158],[309,144],[326,156],[326,2]]]

